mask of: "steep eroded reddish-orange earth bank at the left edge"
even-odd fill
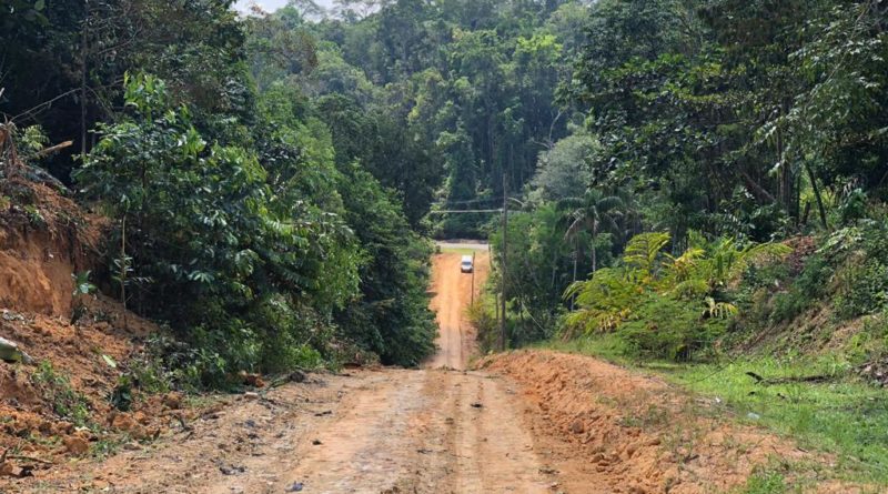
[[[105,222],[54,189],[0,181],[0,336],[33,363],[0,362],[0,492],[10,477],[41,475],[71,456],[157,436],[181,400],[112,394],[142,337],[159,331],[102,295],[80,295],[72,275],[91,269]]]

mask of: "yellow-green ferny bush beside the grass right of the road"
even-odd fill
[[[565,335],[616,332],[633,354],[689,360],[737,314],[724,300],[728,285],[748,266],[789,251],[783,244],[740,246],[692,235],[688,249],[674,258],[664,252],[669,241],[662,232],[636,235],[619,265],[574,283],[565,298],[575,296],[579,309],[566,316]]]

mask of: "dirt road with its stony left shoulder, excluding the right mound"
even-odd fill
[[[465,372],[473,275],[434,258],[441,350],[423,370],[313,377],[211,409],[153,447],[21,487],[119,493],[543,493],[555,482],[514,385]],[[477,253],[476,292],[487,275]],[[46,490],[46,491],[43,491]]]

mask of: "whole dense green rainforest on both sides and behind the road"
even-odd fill
[[[688,360],[826,299],[885,326],[885,1],[1,4],[4,129],[203,383],[418,364],[430,238],[505,256],[512,346]]]

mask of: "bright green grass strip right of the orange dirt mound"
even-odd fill
[[[836,455],[836,476],[888,487],[888,393],[854,376],[847,362],[783,355],[725,359],[717,363],[642,364],[620,356],[620,342],[606,336],[549,341],[537,347],[592,355],[653,372],[690,392],[722,400],[733,412],[731,420],[789,436],[799,447]],[[780,382],[758,383],[748,372]],[[794,381],[814,375],[826,380]]]

